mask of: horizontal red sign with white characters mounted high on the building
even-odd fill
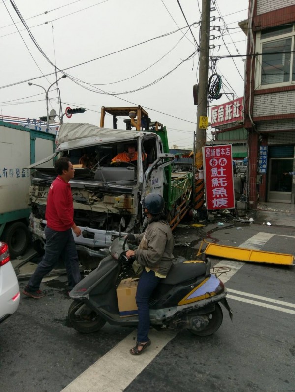
[[[218,128],[219,125],[243,121],[243,112],[244,100],[242,97],[214,106],[211,109],[211,126]]]

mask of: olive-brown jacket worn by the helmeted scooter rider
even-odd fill
[[[146,231],[135,234],[139,243],[135,251],[136,260],[161,275],[166,276],[174,256],[174,239],[167,222],[151,222]]]

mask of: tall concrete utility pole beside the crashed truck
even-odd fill
[[[202,147],[206,144],[207,125],[200,124],[203,117],[208,116],[208,76],[209,76],[209,45],[210,45],[210,10],[211,1],[202,0],[201,16],[201,40],[200,40],[200,68],[199,68],[199,89],[198,89],[198,107],[197,107],[197,130],[195,140],[195,167],[196,180],[195,184],[195,209],[199,209],[204,201],[204,176],[202,178],[203,158]],[[202,121],[201,121],[202,123]],[[206,123],[206,121],[205,121]],[[202,128],[204,127],[204,128]]]

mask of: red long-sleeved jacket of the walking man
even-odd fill
[[[51,184],[47,197],[45,218],[47,226],[58,232],[70,229],[73,221],[74,207],[71,185],[58,176]]]

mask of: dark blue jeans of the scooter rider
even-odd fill
[[[150,319],[148,302],[153,290],[158,286],[160,281],[161,278],[155,276],[154,271],[147,272],[145,268],[140,275],[135,297],[138,308],[138,342],[145,343],[149,340],[148,330],[150,325]]]

